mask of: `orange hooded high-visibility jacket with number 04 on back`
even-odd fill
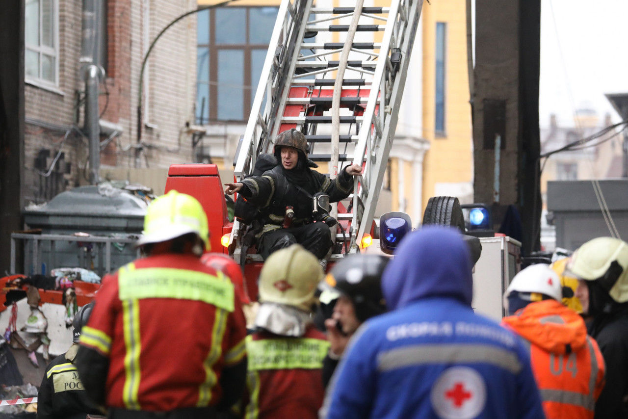
[[[604,358],[582,317],[556,300],[530,303],[503,323],[529,344],[548,419],[592,419],[604,388]]]

